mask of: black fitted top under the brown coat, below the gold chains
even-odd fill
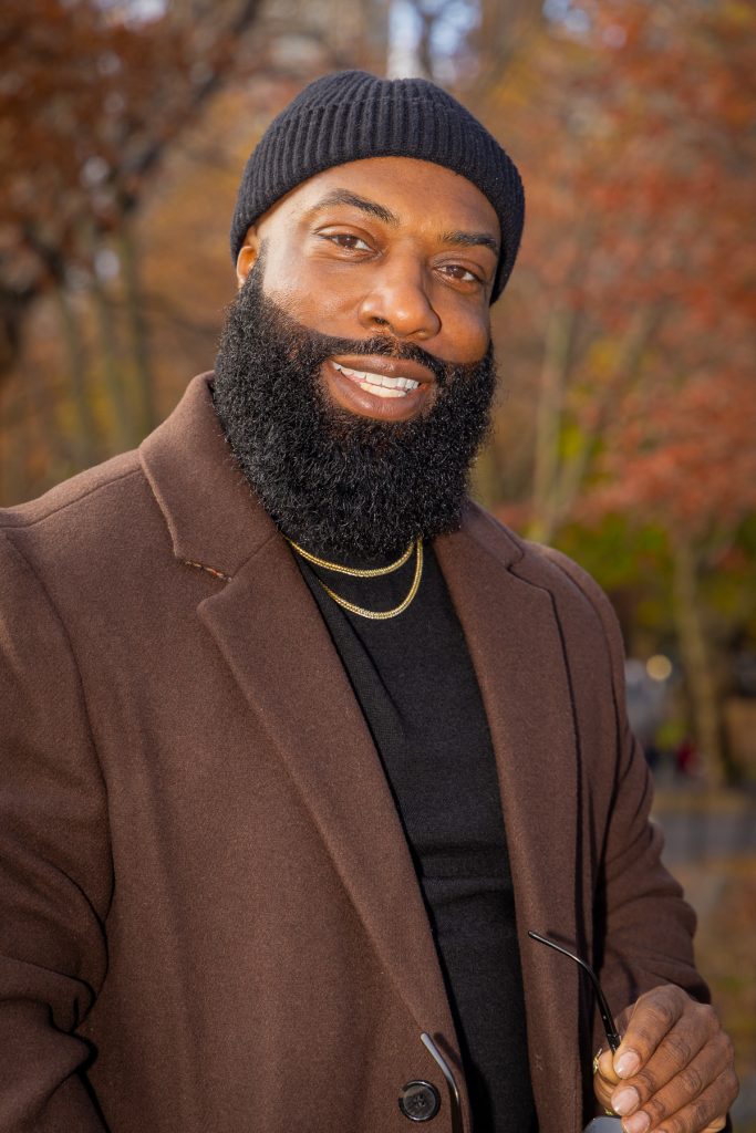
[[[489,725],[465,637],[430,545],[417,595],[391,610],[415,556],[354,579],[297,562],[330,630],[393,792],[465,1062],[475,1133],[537,1128],[527,1059],[512,881]]]

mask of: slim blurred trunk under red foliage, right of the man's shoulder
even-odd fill
[[[673,534],[673,613],[700,765],[710,786],[732,777],[710,644],[700,613],[699,560],[679,533]]]

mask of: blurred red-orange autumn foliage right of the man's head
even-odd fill
[[[541,33],[537,67],[526,53],[487,105],[528,185],[502,334],[535,324],[544,343],[526,356],[540,433],[511,495],[546,535],[605,508],[741,518],[754,503],[756,14],[581,10],[585,34]],[[702,448],[706,424],[717,436]]]

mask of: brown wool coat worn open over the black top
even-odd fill
[[[602,594],[473,505],[435,547],[495,748],[541,1130],[572,1133],[586,997],[526,930],[603,957],[619,1011],[702,990],[693,918]],[[0,702],[2,1133],[408,1133],[413,1079],[450,1133],[391,794],[206,376],[138,452],[2,514]]]

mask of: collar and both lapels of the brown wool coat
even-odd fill
[[[211,377],[190,383],[141,449],[173,553],[219,577],[219,590],[198,606],[201,620],[266,724],[418,1031],[458,1050],[373,741],[320,612],[226,444]],[[577,974],[566,962],[555,985],[553,957],[526,935],[576,938],[576,732],[553,596],[528,577],[519,540],[474,504],[461,530],[439,538],[435,551],[496,756],[540,1124],[569,1127],[572,1118],[577,1128]]]

